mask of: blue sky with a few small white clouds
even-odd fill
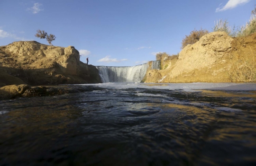
[[[55,46],[72,45],[80,61],[95,66],[135,66],[155,61],[157,52],[181,51],[193,30],[212,32],[249,20],[256,0],[0,0],[0,46],[56,36]]]

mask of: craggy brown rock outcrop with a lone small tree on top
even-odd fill
[[[36,41],[0,46],[0,87],[101,83],[95,66],[80,61],[73,47],[57,47]]]

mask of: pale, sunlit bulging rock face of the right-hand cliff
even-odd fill
[[[229,59],[233,40],[225,32],[212,32],[202,36],[198,42],[187,45],[179,53],[179,60],[172,70],[172,76],[211,67],[220,60]]]

